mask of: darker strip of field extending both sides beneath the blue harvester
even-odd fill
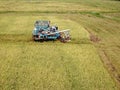
[[[56,44],[62,44],[60,40],[39,40],[34,41],[31,37],[31,35],[25,35],[25,34],[0,34],[0,43],[2,42],[9,42],[9,43],[56,43]],[[71,38],[69,42],[66,42],[64,44],[91,44],[91,40],[88,38]]]

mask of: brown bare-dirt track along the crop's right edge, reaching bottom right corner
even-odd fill
[[[101,39],[97,35],[94,35],[88,29],[86,29],[86,30],[89,32],[90,40],[93,42],[93,44],[101,41]],[[97,48],[97,50],[98,50],[98,54],[101,58],[101,61],[104,64],[104,67],[107,69],[108,73],[110,73],[111,78],[113,78],[114,81],[116,82],[116,86],[120,89],[120,74],[117,72],[117,69],[115,68],[115,66],[110,61],[110,59],[109,59],[107,53],[105,52],[105,50],[101,50],[100,48]]]

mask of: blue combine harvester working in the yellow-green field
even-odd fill
[[[50,26],[50,21],[39,20],[35,22],[33,30],[34,41],[60,40],[61,42],[70,41],[69,30],[58,30],[57,26]]]

